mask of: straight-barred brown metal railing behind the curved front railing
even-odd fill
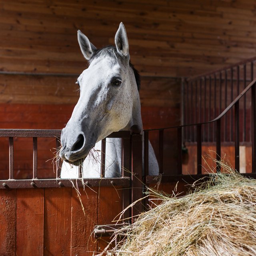
[[[256,58],[251,58],[224,69],[188,78],[184,83],[183,95],[183,123],[202,123],[216,118],[233,102],[246,85],[254,79],[256,74]],[[250,92],[240,101],[240,141],[251,142],[250,137],[252,123],[250,116]],[[233,142],[234,110],[231,110],[224,118],[222,141]],[[216,140],[216,127],[208,123],[202,129],[202,141],[214,142]],[[184,133],[187,142],[196,141],[195,127],[190,126]]]

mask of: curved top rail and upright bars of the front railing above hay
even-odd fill
[[[184,128],[193,128],[195,127],[195,134],[196,134],[196,142],[197,142],[197,175],[202,174],[202,125],[208,125],[208,124],[215,124],[215,142],[216,142],[216,160],[217,160],[217,166],[216,170],[220,171],[220,161],[221,159],[221,124],[222,120],[226,117],[229,111],[231,111],[234,107],[234,148],[235,148],[235,169],[237,172],[239,172],[239,163],[240,163],[240,154],[239,154],[239,146],[240,146],[240,123],[239,123],[239,101],[242,97],[246,95],[246,93],[251,90],[251,116],[252,116],[252,128],[251,128],[251,145],[252,145],[252,174],[256,173],[256,79],[252,80],[246,88],[222,111],[221,114],[219,114],[216,118],[207,121],[207,122],[201,122],[201,123],[194,123],[194,124],[184,124],[182,126],[172,126],[172,127],[166,127],[166,128],[160,128],[160,129],[148,129],[144,130],[145,138],[149,137],[149,133],[152,131],[158,131],[159,132],[159,147],[162,148],[162,138],[164,136],[163,132],[168,129],[176,129],[177,130],[177,172],[172,175],[171,178],[174,181],[176,178],[178,180],[182,180],[182,140],[183,140],[183,130]],[[232,124],[233,125],[233,124]],[[144,140],[144,157],[148,160],[148,140]],[[159,159],[162,161],[162,150],[159,150],[160,156]],[[159,164],[160,170],[161,166],[163,166],[163,163],[160,162]],[[145,164],[145,174],[148,175],[148,164]],[[161,170],[162,172],[162,170]],[[178,175],[178,176],[177,176]],[[176,177],[176,178],[175,178]],[[200,176],[198,176],[200,177]],[[194,177],[196,178],[196,177]],[[166,176],[164,178],[166,179]],[[169,179],[170,180],[170,179]],[[152,178],[147,178],[147,182],[153,181]]]

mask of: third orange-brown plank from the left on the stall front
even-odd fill
[[[72,188],[44,192],[44,255],[70,255]]]

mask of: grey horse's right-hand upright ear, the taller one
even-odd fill
[[[120,23],[119,28],[116,32],[115,44],[119,54],[125,57],[129,56],[128,38],[123,22]]]

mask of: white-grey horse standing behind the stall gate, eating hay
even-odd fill
[[[80,97],[62,129],[59,154],[64,161],[60,176],[78,178],[78,166],[82,164],[83,178],[99,178],[101,140],[134,125],[143,131],[140,75],[130,62],[122,22],[115,35],[115,46],[97,49],[80,30],[78,44],[88,68],[77,79]],[[106,138],[106,178],[121,176],[121,140]],[[149,142],[149,175],[158,174],[158,162]]]

